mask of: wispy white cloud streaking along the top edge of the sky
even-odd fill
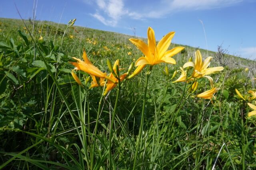
[[[147,3],[151,9],[150,12],[144,6],[137,6],[140,10],[136,11],[136,9],[125,6],[124,2],[124,0],[96,0],[96,12],[91,15],[105,25],[116,26],[123,17],[134,20],[162,18],[181,11],[209,10],[232,6],[242,2],[242,0],[159,0],[157,5],[152,4],[150,6],[150,2]],[[143,4],[145,3],[141,3],[141,5]]]

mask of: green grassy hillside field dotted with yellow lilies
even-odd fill
[[[0,18],[0,169],[256,169],[254,61],[75,21]]]

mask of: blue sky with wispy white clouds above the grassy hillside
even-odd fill
[[[173,43],[256,59],[256,0],[1,0],[0,17],[76,24],[94,29],[147,37],[148,26],[156,39],[170,31]],[[203,27],[204,25],[204,27]],[[205,33],[204,33],[205,30]],[[205,36],[206,35],[206,36]]]

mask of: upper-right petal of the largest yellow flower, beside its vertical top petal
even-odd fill
[[[158,42],[156,49],[158,51],[159,57],[162,58],[163,55],[165,54],[166,50],[170,46],[170,43],[172,41],[174,34],[175,34],[175,32],[170,32],[170,33],[166,34],[164,37],[162,37],[162,39]],[[170,57],[172,57],[172,56],[170,56]]]

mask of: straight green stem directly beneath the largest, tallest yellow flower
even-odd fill
[[[145,106],[146,106],[146,96],[147,96],[147,89],[148,89],[148,78],[149,78],[149,74],[150,74],[151,70],[152,70],[152,66],[150,66],[150,70],[146,74],[146,84],[145,84],[145,90],[144,90],[144,100],[143,100],[141,120],[140,120],[140,131],[139,131],[139,137],[137,139],[136,152],[135,152],[134,163],[133,163],[133,168],[132,168],[133,170],[135,170],[136,160],[137,160],[139,146],[140,146],[140,139],[141,139],[141,136],[142,136],[143,121],[144,121],[144,110],[145,110]]]

